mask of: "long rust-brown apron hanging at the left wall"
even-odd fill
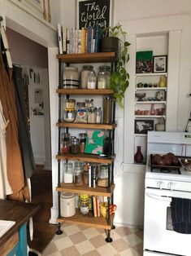
[[[0,99],[6,120],[10,123],[7,126],[7,178],[11,185],[12,194],[9,196],[15,201],[29,201],[27,183],[24,180],[20,144],[18,137],[18,122],[15,108],[15,92],[12,80],[9,79],[0,53]]]

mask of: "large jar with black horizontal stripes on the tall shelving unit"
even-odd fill
[[[78,89],[79,88],[78,68],[76,68],[76,67],[64,68],[63,88],[67,88],[67,89]]]

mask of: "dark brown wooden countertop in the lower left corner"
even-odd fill
[[[22,203],[19,201],[0,200],[0,219],[15,221],[15,225],[9,229],[1,238],[0,246],[3,245],[20,227],[28,222],[37,211],[40,205]]]

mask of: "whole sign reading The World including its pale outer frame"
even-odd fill
[[[80,8],[83,7],[80,7],[80,4],[85,4],[85,2],[87,2],[86,10],[81,11]],[[112,26],[113,10],[113,0],[76,0],[76,28],[81,29],[82,26],[88,28],[89,25],[94,27],[96,24],[100,24],[101,28]],[[87,19],[87,15],[91,15],[92,19]],[[101,19],[100,15],[102,15],[103,19]],[[93,17],[98,19],[95,20]],[[86,22],[84,22],[85,20]]]

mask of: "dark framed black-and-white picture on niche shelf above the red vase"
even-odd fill
[[[148,130],[154,130],[154,120],[136,119],[135,120],[135,134],[146,135]]]

